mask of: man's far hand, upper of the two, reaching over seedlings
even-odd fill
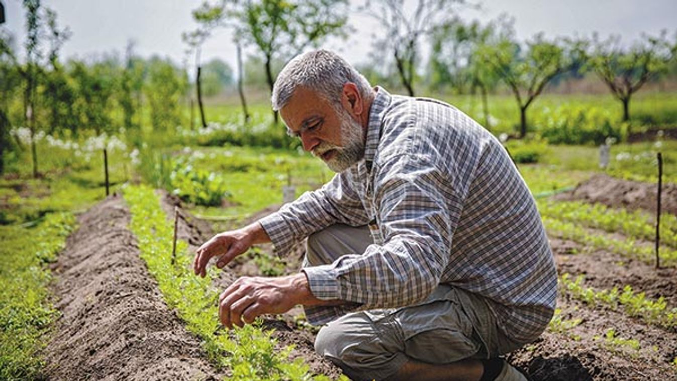
[[[195,259],[193,261],[195,275],[204,277],[206,275],[207,263],[214,256],[221,256],[216,265],[221,269],[236,256],[246,252],[253,244],[261,244],[263,242],[270,242],[270,238],[258,222],[242,229],[218,233],[209,241],[204,242],[195,252]]]

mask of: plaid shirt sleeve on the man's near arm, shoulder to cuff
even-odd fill
[[[414,154],[384,164],[376,173],[374,189],[383,246],[372,244],[364,254],[303,269],[313,295],[346,300],[352,309],[401,307],[424,300],[439,284],[449,261],[462,205],[453,192],[443,193],[442,189],[450,189],[443,173]]]

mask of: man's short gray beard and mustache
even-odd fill
[[[364,129],[355,119],[352,118],[346,110],[341,108],[339,112],[341,118],[341,143],[335,145],[323,141],[315,149],[313,155],[324,160],[329,169],[336,173],[341,173],[353,164],[364,158]],[[324,154],[331,153],[330,158],[324,158]]]

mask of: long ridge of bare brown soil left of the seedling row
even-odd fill
[[[111,196],[81,215],[68,238],[53,269],[62,316],[45,349],[47,378],[221,378],[162,301],[128,223],[123,200]]]

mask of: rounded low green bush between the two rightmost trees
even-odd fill
[[[600,145],[608,137],[621,140],[624,128],[611,115],[603,108],[564,105],[546,108],[533,118],[533,125],[552,144]]]

